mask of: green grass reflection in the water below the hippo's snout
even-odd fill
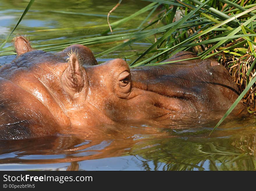
[[[158,145],[147,149],[140,145],[133,152],[146,159],[142,161],[145,170],[255,170],[255,136],[254,140],[246,136],[232,141],[198,139],[162,139]],[[148,161],[154,162],[154,169],[148,167]]]

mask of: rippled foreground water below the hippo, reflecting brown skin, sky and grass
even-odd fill
[[[208,124],[122,126],[86,140],[75,134],[2,140],[0,170],[256,170],[255,118],[249,119],[235,121],[241,128],[226,122],[211,137]]]

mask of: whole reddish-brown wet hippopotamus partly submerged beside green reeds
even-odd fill
[[[98,64],[92,51],[71,45],[35,50],[15,37],[17,57],[0,68],[0,139],[26,139],[102,124],[175,125],[224,114],[236,84],[217,61],[182,51],[160,66],[129,68],[123,59]],[[164,62],[166,62],[164,61]],[[243,110],[238,104],[234,112]]]

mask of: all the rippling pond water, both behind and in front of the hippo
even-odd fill
[[[0,41],[15,26],[28,1],[0,2]],[[15,33],[26,34],[33,46],[100,36],[108,29],[106,15],[117,1],[35,1]],[[148,2],[122,1],[110,22],[139,10]],[[59,11],[88,15],[65,15]],[[116,28],[134,29],[144,15]],[[153,42],[153,41],[152,41]],[[145,50],[149,41],[97,57],[99,62],[124,58]],[[118,43],[88,46],[98,54]],[[10,46],[10,43],[5,47]],[[15,55],[0,57],[9,63]],[[130,57],[129,59],[135,59]],[[128,59],[128,61],[129,61]],[[105,127],[94,136],[63,132],[50,137],[0,141],[0,170],[255,170],[256,125],[254,116],[184,128],[123,125]]]

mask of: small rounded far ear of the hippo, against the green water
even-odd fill
[[[15,37],[13,42],[18,56],[32,50],[29,41],[22,36]]]

